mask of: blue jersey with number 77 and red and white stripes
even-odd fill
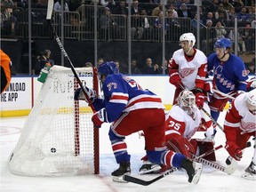
[[[124,112],[142,108],[163,108],[162,100],[154,92],[143,90],[132,78],[121,73],[108,75],[102,84],[104,100],[97,99],[93,106],[105,108],[108,122],[114,122]]]

